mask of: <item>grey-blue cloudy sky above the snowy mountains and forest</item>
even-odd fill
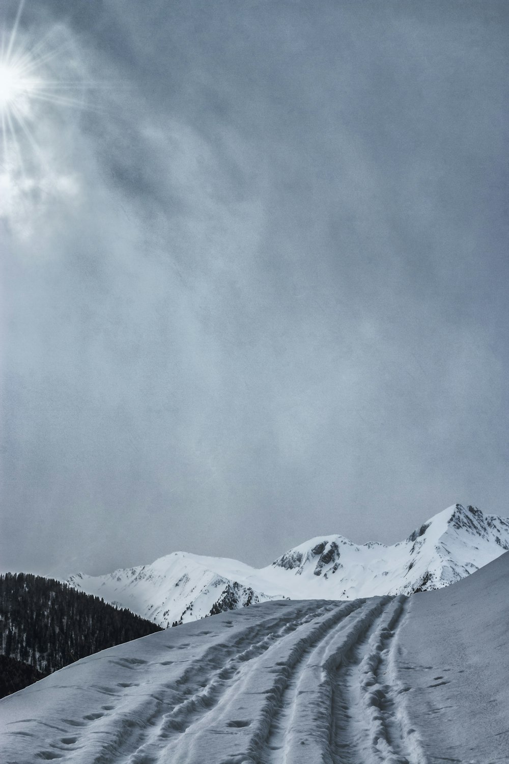
[[[507,516],[507,2],[17,11],[0,567]]]

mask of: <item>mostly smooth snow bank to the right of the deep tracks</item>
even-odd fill
[[[509,554],[408,601],[394,651],[427,762],[509,762]]]

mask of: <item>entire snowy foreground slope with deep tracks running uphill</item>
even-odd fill
[[[255,604],[0,701],[2,764],[507,762],[509,555],[417,597]]]

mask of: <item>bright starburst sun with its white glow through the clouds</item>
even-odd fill
[[[9,224],[41,200],[60,198],[60,180],[72,175],[61,147],[72,146],[83,110],[101,111],[97,93],[108,87],[89,79],[84,50],[64,21],[34,24],[31,11],[21,23],[24,0],[14,2],[10,24],[5,5],[0,13],[0,223]]]

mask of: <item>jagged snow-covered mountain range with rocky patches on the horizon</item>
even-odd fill
[[[266,568],[174,552],[109,575],[67,583],[161,626],[275,599],[352,600],[440,589],[509,549],[509,520],[455,504],[393,546],[317,536]]]

